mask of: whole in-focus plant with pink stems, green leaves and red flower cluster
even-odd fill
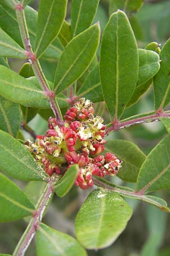
[[[100,32],[99,0],[72,0],[71,11],[67,0],[40,0],[38,12],[29,0],[0,0],[0,221],[30,217],[8,251],[13,256],[24,255],[35,234],[38,256],[86,256],[86,249],[111,245],[132,214],[122,197],[170,212],[164,199],[150,195],[170,188],[170,41],[139,49],[133,14],[144,1],[108,2]],[[24,60],[19,73],[11,58]],[[146,92],[154,92],[155,108],[141,114]],[[37,120],[37,127],[29,123]],[[140,124],[156,121],[167,131],[148,155],[125,140],[135,141],[141,127],[149,141]],[[28,181],[25,191],[7,175]],[[88,188],[76,212],[76,239],[42,223],[52,195]]]

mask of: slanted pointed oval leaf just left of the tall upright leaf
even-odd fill
[[[86,71],[99,45],[99,38],[100,27],[95,24],[67,44],[56,69],[54,87],[57,94],[73,84]]]

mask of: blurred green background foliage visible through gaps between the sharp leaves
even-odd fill
[[[112,0],[100,0],[94,23],[100,21],[101,33],[108,21]],[[39,1],[32,0],[29,3],[37,10]],[[109,8],[110,6],[110,8]],[[67,21],[70,22],[71,1],[67,10]],[[158,42],[164,45],[170,36],[170,0],[146,0],[138,13],[129,13],[131,26],[137,38],[139,48],[145,48],[150,42]],[[98,51],[99,59],[100,49]],[[23,65],[21,60],[9,60],[10,67],[19,72]],[[56,60],[41,59],[42,69],[48,80],[53,81],[56,69]],[[83,78],[82,78],[83,79]],[[154,110],[154,91],[152,87],[140,98],[137,104],[125,110],[122,119],[131,115]],[[167,107],[169,110],[169,106]],[[63,113],[65,109],[62,110]],[[36,134],[43,134],[47,129],[48,117],[52,115],[50,110],[41,110],[37,114],[37,109],[29,109],[28,126]],[[109,122],[109,117],[105,111],[105,106],[101,102],[96,104],[96,114],[104,117],[105,123]],[[134,142],[145,154],[162,139],[166,130],[162,122],[145,123],[143,125],[122,129],[117,133],[112,133],[107,139],[126,139]],[[20,131],[20,139],[31,138],[30,134],[24,130]],[[42,184],[15,182],[27,191],[32,200],[37,200]],[[127,185],[124,181],[114,177],[114,183]],[[129,185],[129,184],[128,184]],[[134,184],[130,184],[134,187]],[[62,199],[53,197],[48,213],[44,217],[44,222],[59,231],[66,232],[74,236],[74,219],[80,205],[90,191],[82,191],[74,187],[69,194]],[[162,195],[160,195],[162,193]],[[156,196],[164,197],[170,203],[170,192],[157,192]],[[170,218],[167,213],[137,200],[125,199],[134,209],[133,217],[121,236],[107,249],[99,251],[88,251],[89,256],[170,256]],[[27,226],[27,219],[0,224],[0,251],[1,253],[12,253],[20,236]],[[29,246],[25,255],[32,256],[35,251],[35,241]],[[48,255],[47,255],[48,256]]]

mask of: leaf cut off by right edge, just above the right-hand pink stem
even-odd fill
[[[170,99],[170,39],[160,51],[160,70],[154,77],[155,110],[164,109]]]

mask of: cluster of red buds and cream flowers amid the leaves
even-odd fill
[[[105,125],[103,118],[94,117],[94,105],[80,98],[65,114],[65,124],[58,126],[56,118],[48,120],[49,130],[36,137],[35,142],[25,141],[25,147],[36,161],[52,176],[64,174],[73,164],[78,164],[79,174],[75,185],[82,189],[92,187],[92,176],[116,175],[122,161],[104,151]]]

